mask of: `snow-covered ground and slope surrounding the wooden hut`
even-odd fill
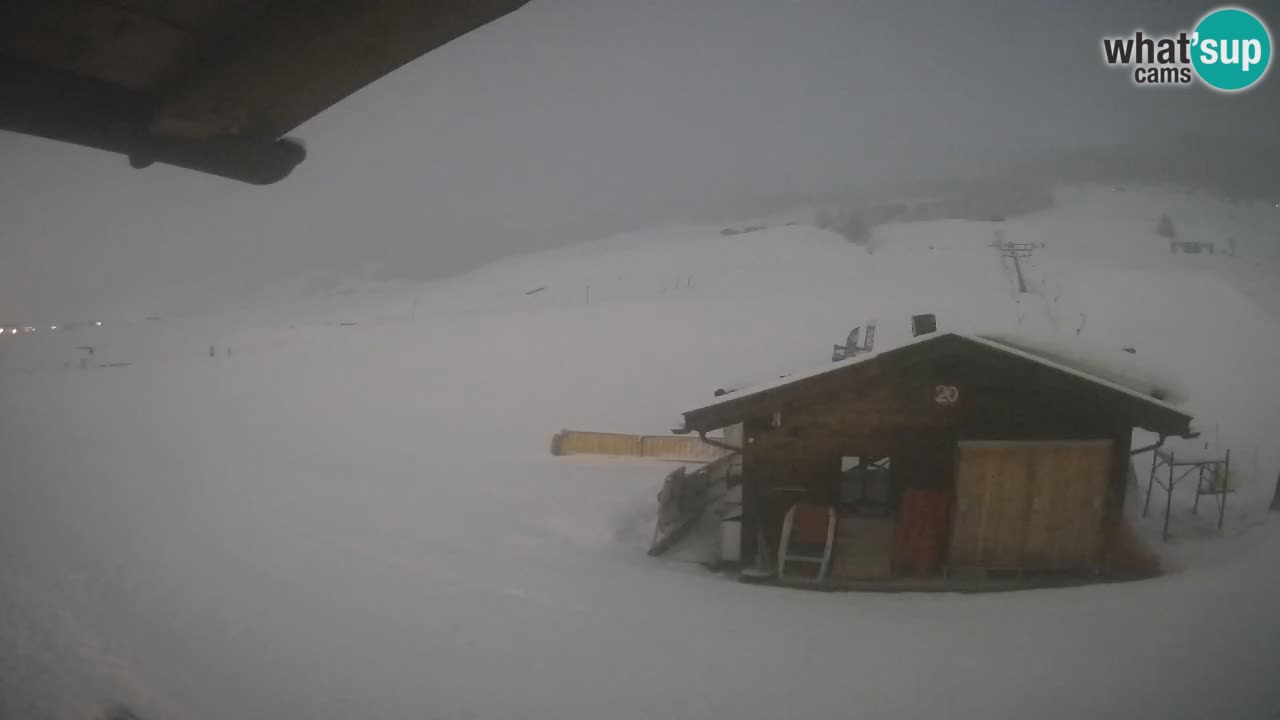
[[[1162,213],[1236,255],[1169,255]],[[0,716],[1275,717],[1275,213],[1064,188],[1004,223],[877,228],[873,254],[669,227],[5,338]],[[1032,293],[997,231],[1044,243]],[[1156,580],[749,587],[645,556],[669,464],[548,455],[561,428],[662,433],[716,387],[822,365],[868,319],[902,342],[928,311],[1183,396],[1240,459],[1226,537],[1188,496]],[[81,370],[83,345],[128,365]]]

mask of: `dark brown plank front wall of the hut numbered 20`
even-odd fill
[[[772,416],[745,423],[744,559],[755,551],[762,524],[777,548],[790,505],[836,501],[841,456],[891,456],[899,489],[954,488],[961,441],[1112,441],[1103,512],[1116,518],[1132,427],[1074,386],[996,370],[965,357],[937,359],[787,404],[777,427]]]

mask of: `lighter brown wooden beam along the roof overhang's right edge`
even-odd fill
[[[160,133],[279,137],[527,0],[285,0],[206,44],[163,97]]]

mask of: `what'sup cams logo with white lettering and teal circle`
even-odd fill
[[[1140,86],[1201,83],[1220,92],[1240,92],[1262,81],[1271,65],[1271,32],[1257,14],[1242,8],[1211,10],[1190,32],[1103,37],[1102,59],[1133,68]]]

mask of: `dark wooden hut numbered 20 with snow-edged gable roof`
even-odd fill
[[[723,395],[675,432],[741,424],[744,562],[776,569],[788,510],[826,507],[823,580],[859,584],[1097,573],[1123,534],[1134,428],[1189,423],[1061,361],[932,334]]]

